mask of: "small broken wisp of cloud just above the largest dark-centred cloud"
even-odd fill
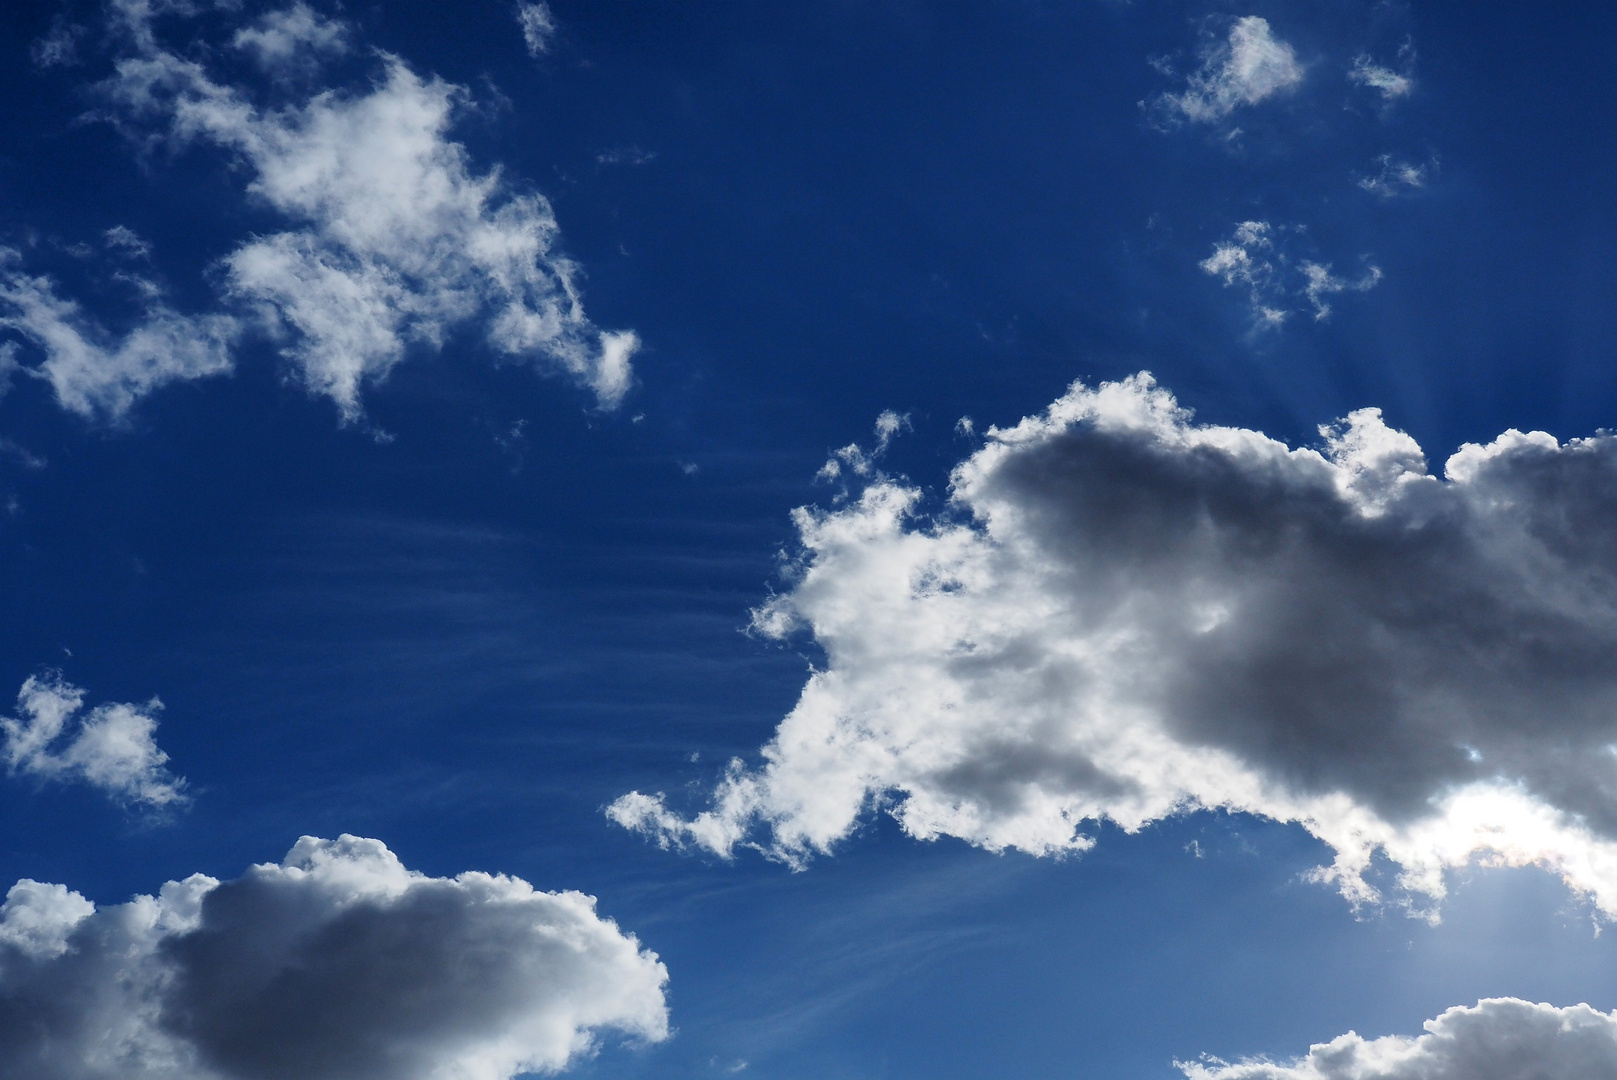
[[[1326,297],[1332,293],[1365,293],[1381,283],[1381,268],[1373,265],[1358,278],[1342,278],[1331,272],[1328,262],[1294,262],[1282,241],[1295,239],[1300,233],[1300,228],[1268,221],[1242,221],[1229,239],[1216,243],[1213,254],[1197,265],[1226,286],[1247,291],[1255,327],[1284,323],[1297,297],[1308,302],[1316,320],[1326,319],[1331,314]]]

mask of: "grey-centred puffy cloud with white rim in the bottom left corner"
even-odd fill
[[[37,1080],[508,1080],[600,1031],[668,1035],[657,956],[581,892],[406,870],[306,836],[280,863],[97,909],[0,907],[0,1074]]]

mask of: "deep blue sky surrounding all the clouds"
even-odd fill
[[[660,852],[600,808],[710,784],[802,686],[808,643],[742,634],[826,453],[881,409],[889,467],[941,500],[973,446],[1072,378],[1140,369],[1205,420],[1307,443],[1381,406],[1436,462],[1505,427],[1617,425],[1617,13],[1252,3],[553,3],[530,60],[505,3],[353,3],[361,39],[472,89],[480,168],[555,204],[590,317],[645,341],[597,414],[471,335],[367,393],[369,425],[283,378],[165,388],[126,428],[44,383],[0,401],[0,689],[60,666],[92,702],[167,703],[194,786],[171,821],[0,783],[0,880],[97,902],[233,876],[302,833],[383,839],[429,873],[579,888],[666,960],[678,1035],[587,1077],[1164,1080],[1174,1057],[1412,1033],[1486,994],[1617,1007],[1617,954],[1531,871],[1473,871],[1446,922],[1358,917],[1302,875],[1300,829],[1201,815],[1064,862],[918,844],[876,820],[789,873]],[[105,55],[0,32],[0,230],[116,323],[125,225],[183,310],[273,221],[215,152],[141,154],[81,120]],[[1208,15],[1263,15],[1310,66],[1221,133],[1159,131],[1155,70]],[[1408,37],[1418,91],[1349,86]],[[340,78],[362,84],[364,52]],[[603,163],[637,150],[644,163]],[[1439,168],[1378,200],[1379,154]],[[1253,335],[1198,270],[1237,221],[1384,281]],[[519,435],[513,435],[521,424]],[[377,432],[391,435],[378,441]],[[27,467],[23,453],[45,459]],[[695,466],[687,472],[684,466]],[[695,792],[690,795],[695,797]],[[1187,846],[1197,842],[1201,857]]]

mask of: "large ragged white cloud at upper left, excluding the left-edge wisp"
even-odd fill
[[[336,32],[298,11],[238,42],[270,55],[272,45],[310,49],[310,26]],[[569,373],[603,407],[629,390],[639,338],[602,331],[584,314],[577,267],[555,251],[550,204],[513,192],[498,170],[474,171],[448,139],[462,87],[383,55],[369,91],[264,110],[154,44],[121,60],[105,92],[120,115],[160,124],[175,144],[238,154],[249,192],[288,218],[293,228],[225,257],[228,291],[264,315],[304,383],[346,417],[361,414],[364,383],[407,348],[437,348],[467,323],[508,359]]]

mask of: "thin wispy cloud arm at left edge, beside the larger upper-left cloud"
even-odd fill
[[[21,370],[47,380],[61,407],[116,420],[165,383],[231,370],[230,348],[241,333],[236,319],[181,315],[155,285],[131,276],[147,299],[146,312],[120,336],[60,297],[50,278],[23,273],[18,260],[16,251],[0,249],[0,327],[44,354]]]

